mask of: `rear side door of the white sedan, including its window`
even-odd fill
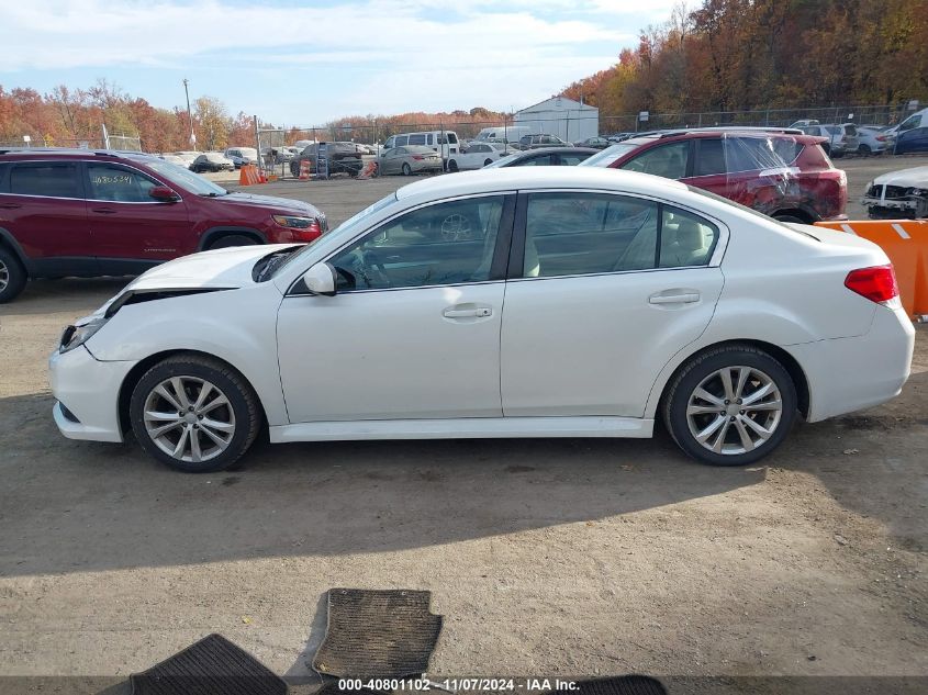
[[[504,415],[641,417],[661,368],[712,318],[722,232],[641,198],[521,195],[501,340]]]

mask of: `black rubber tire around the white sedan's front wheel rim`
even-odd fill
[[[214,458],[200,462],[175,458],[155,444],[148,434],[144,421],[146,400],[158,384],[172,377],[204,379],[228,400],[227,407],[234,413],[235,429],[225,450]],[[135,384],[128,413],[132,430],[142,448],[161,463],[185,473],[214,473],[227,469],[248,450],[261,425],[258,397],[245,378],[228,365],[201,355],[176,355],[152,367]],[[209,444],[204,435],[191,436],[200,437],[199,441]]]

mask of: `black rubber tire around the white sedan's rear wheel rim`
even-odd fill
[[[696,440],[696,437],[690,430],[690,423],[687,421],[687,406],[696,388],[704,380],[711,378],[717,370],[724,369],[725,367],[748,367],[762,372],[780,392],[780,403],[782,404],[779,422],[768,425],[768,427],[773,426],[773,431],[769,438],[761,441],[753,449],[740,453],[737,451],[719,453],[709,450]],[[750,382],[748,385],[750,386]],[[706,388],[708,389],[708,385]],[[723,397],[722,394],[713,395]],[[727,408],[728,406],[722,405],[719,407]],[[731,407],[737,410],[738,406],[733,404]],[[687,456],[702,463],[712,466],[746,466],[762,459],[773,451],[789,434],[796,418],[796,388],[793,384],[790,372],[786,371],[783,365],[763,350],[749,345],[727,345],[709,349],[691,358],[680,369],[666,393],[662,411],[663,422],[671,437],[673,437],[677,446]],[[738,413],[731,414],[731,411],[728,411],[728,413],[731,418],[738,417]],[[761,422],[761,417],[768,416],[767,412],[761,411],[761,413],[764,414],[762,416],[760,413],[757,414],[757,419],[752,417],[752,422],[757,422],[759,425],[767,424]],[[745,411],[740,411],[740,414],[743,415]],[[707,429],[708,424],[714,422],[712,418],[716,418],[719,415],[722,415],[720,412],[718,414],[707,413],[704,416],[697,415],[694,416],[694,422],[705,417],[706,419],[701,421],[697,426],[702,426],[705,423]],[[728,415],[725,417],[728,417]],[[773,415],[770,415],[770,417],[773,417]],[[734,419],[729,419],[729,422],[734,422]],[[723,440],[724,447],[726,442],[730,439],[738,438],[739,435],[738,430],[735,427],[730,427],[724,419],[722,427],[725,428],[726,437]],[[745,428],[743,425],[741,427]],[[748,428],[745,429],[747,430]],[[739,447],[740,441],[733,442],[731,446]]]

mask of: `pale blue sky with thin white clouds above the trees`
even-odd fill
[[[607,68],[674,0],[0,0],[0,85],[217,97],[276,125],[518,110]]]

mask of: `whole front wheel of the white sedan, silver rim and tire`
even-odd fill
[[[257,396],[226,365],[201,356],[170,357],[132,392],[135,438],[149,455],[187,473],[221,471],[258,434]]]

